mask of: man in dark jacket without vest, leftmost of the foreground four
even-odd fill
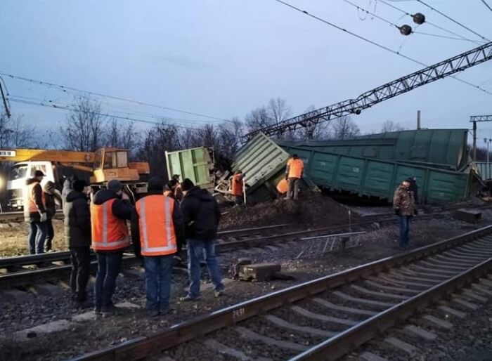
[[[91,214],[87,183],[75,180],[63,206],[65,241],[72,258],[70,287],[72,298],[79,304],[86,301],[86,287],[91,268]]]

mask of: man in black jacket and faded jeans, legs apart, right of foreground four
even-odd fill
[[[222,284],[221,270],[215,254],[217,228],[219,228],[221,215],[219,205],[207,190],[195,187],[188,178],[181,183],[181,189],[183,190],[181,211],[188,245],[188,274],[190,277],[190,291],[181,300],[200,299],[200,258],[204,249],[215,296],[221,296],[224,292],[224,284]]]

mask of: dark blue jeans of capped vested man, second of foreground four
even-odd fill
[[[116,279],[122,266],[123,251],[97,252],[98,274],[94,284],[94,306],[111,306]]]

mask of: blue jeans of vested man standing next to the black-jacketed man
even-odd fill
[[[166,313],[171,295],[171,273],[174,255],[143,256],[147,309]]]

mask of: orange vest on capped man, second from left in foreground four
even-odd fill
[[[92,248],[95,251],[115,251],[130,245],[127,221],[112,214],[110,199],[103,204],[91,203]]]

